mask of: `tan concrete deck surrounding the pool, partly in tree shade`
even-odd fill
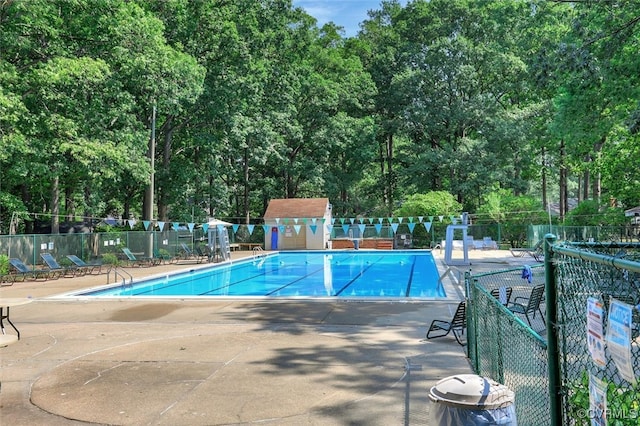
[[[234,252],[243,255],[251,253]],[[444,272],[443,253],[434,256]],[[469,257],[459,270],[535,264],[509,251]],[[140,278],[194,267],[126,270]],[[32,299],[11,308],[21,339],[0,348],[0,424],[427,425],[429,389],[471,373],[452,336],[424,340],[431,320],[451,319],[455,300],[52,297],[106,280],[0,289],[2,298]]]

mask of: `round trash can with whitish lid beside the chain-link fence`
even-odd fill
[[[515,394],[505,385],[475,374],[446,377],[429,392],[431,425],[517,426]]]

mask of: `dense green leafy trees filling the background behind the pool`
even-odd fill
[[[2,0],[0,233],[249,223],[291,197],[488,222],[588,201],[601,223],[640,204],[639,21],[628,0],[384,1],[347,38],[286,0]]]

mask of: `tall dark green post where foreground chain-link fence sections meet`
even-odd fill
[[[545,299],[547,316],[547,354],[549,363],[549,413],[552,426],[562,425],[562,383],[560,380],[560,357],[558,353],[558,310],[557,284],[554,264],[552,262],[552,246],[556,236],[544,236],[544,271],[545,271]]]

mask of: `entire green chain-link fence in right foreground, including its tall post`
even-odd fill
[[[472,367],[515,392],[521,425],[594,424],[590,377],[606,387],[608,424],[640,425],[640,386],[621,376],[610,349],[597,365],[587,339],[590,298],[603,307],[604,330],[611,301],[627,303],[629,368],[640,374],[640,244],[554,241],[531,274],[523,267],[465,277]],[[546,299],[540,309],[517,308],[538,286]]]

